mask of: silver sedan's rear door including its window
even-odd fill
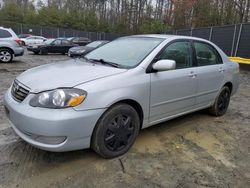
[[[225,65],[217,50],[209,43],[194,41],[197,62],[196,107],[214,102],[224,80]]]

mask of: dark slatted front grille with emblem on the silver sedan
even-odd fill
[[[22,102],[29,94],[29,90],[15,80],[11,88],[11,94],[17,102]]]

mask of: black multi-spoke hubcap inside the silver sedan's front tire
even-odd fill
[[[131,143],[135,131],[132,120],[131,116],[120,114],[108,125],[104,144],[110,151],[120,151]]]

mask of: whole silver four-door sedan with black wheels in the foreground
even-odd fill
[[[209,41],[129,36],[22,73],[4,106],[16,133],[35,147],[91,147],[112,158],[126,153],[143,128],[201,109],[225,114],[238,75],[239,65]]]

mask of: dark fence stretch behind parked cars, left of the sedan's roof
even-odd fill
[[[19,34],[32,34],[39,35],[46,38],[58,38],[58,37],[87,37],[92,41],[95,40],[114,40],[118,38],[119,34],[104,33],[104,32],[87,32],[66,28],[55,28],[46,26],[32,26],[24,24],[14,23],[1,23],[0,26],[11,28],[17,35]]]

